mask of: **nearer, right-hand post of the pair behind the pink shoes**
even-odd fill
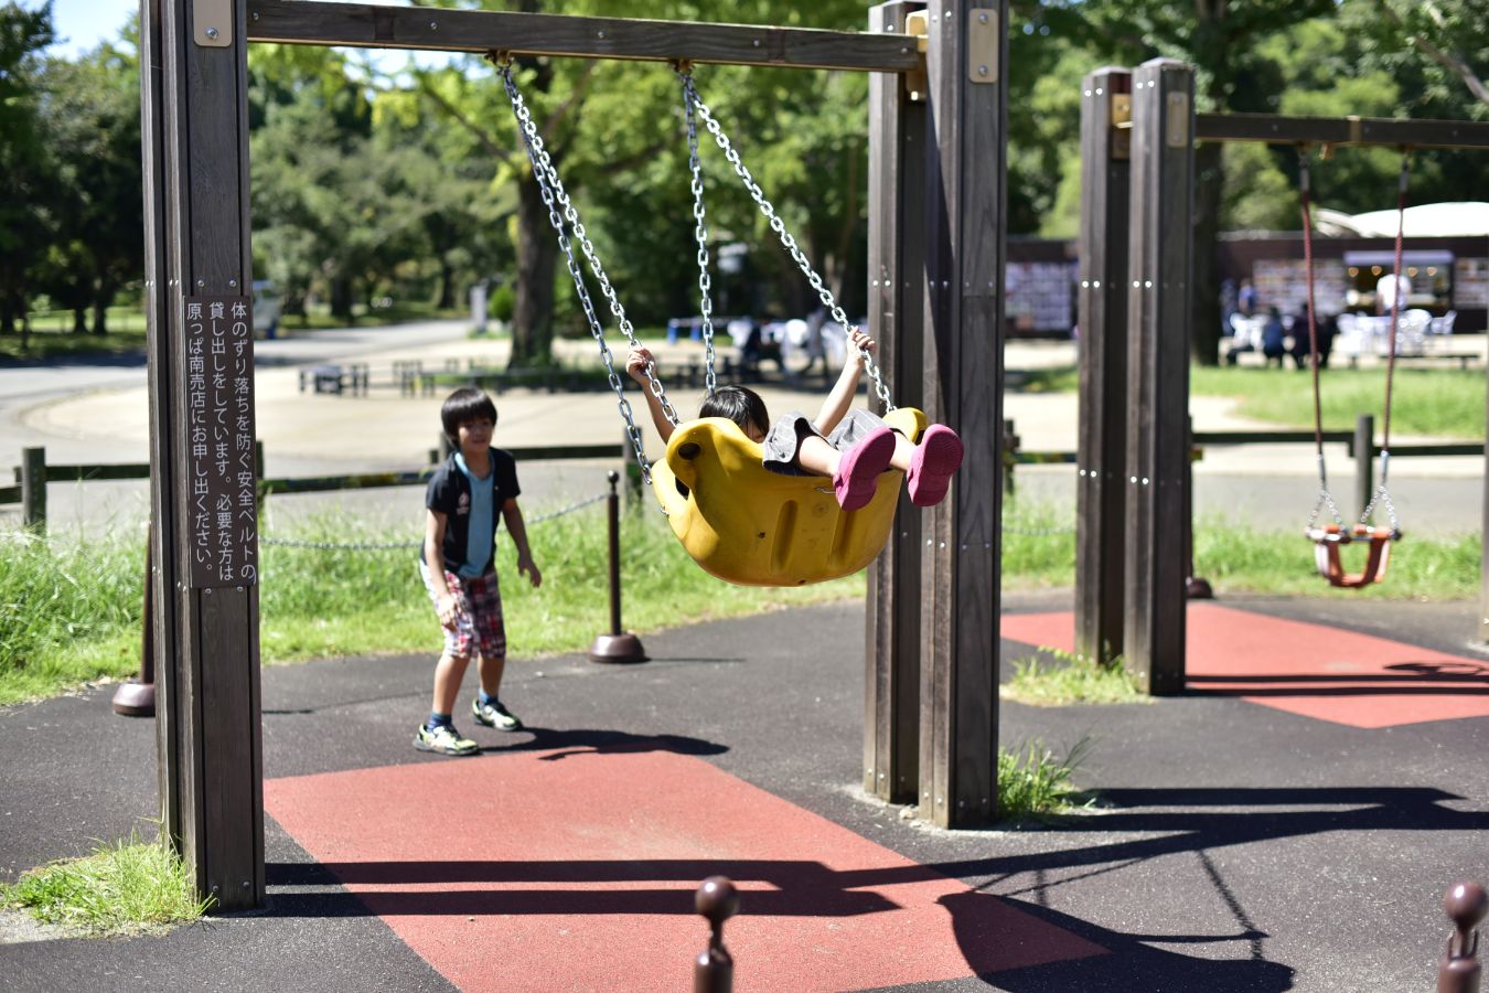
[[[1007,0],[926,10],[923,408],[966,462],[920,515],[919,814],[986,823],[998,798]]]

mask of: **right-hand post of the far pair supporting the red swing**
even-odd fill
[[[1132,76],[1127,277],[1127,545],[1123,657],[1150,694],[1184,689],[1188,572],[1190,265],[1194,70]]]

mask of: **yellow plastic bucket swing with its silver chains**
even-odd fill
[[[879,555],[889,540],[893,527],[895,506],[899,500],[902,473],[889,470],[880,479],[874,499],[868,506],[844,512],[834,496],[829,479],[817,476],[788,476],[770,472],[761,463],[761,447],[752,442],[733,421],[719,417],[697,418],[680,423],[676,409],[667,399],[666,389],[654,368],[646,369],[646,389],[658,399],[663,414],[676,426],[667,445],[666,460],[655,464],[646,460],[640,429],[625,399],[621,377],[615,369],[613,356],[605,341],[605,329],[596,314],[594,304],[585,287],[584,274],[573,253],[578,243],[600,292],[609,301],[610,313],[630,345],[639,347],[636,332],[625,317],[610,281],[605,275],[573,202],[564,192],[542,138],[533,125],[532,115],[512,77],[511,58],[493,54],[508,100],[517,116],[518,134],[533,165],[533,176],[548,207],[548,220],[558,247],[563,250],[573,278],[575,292],[590,323],[590,332],[600,348],[600,357],[609,374],[610,389],[619,402],[621,417],[631,439],[636,463],[642,478],[661,503],[673,533],[682,542],[688,555],[710,575],[746,587],[801,587],[813,582],[837,579],[864,569]],[[828,307],[834,320],[849,328],[847,314],[822,284],[822,277],[785,229],[774,207],[740,162],[739,153],[724,135],[707,106],[692,88],[691,71],[677,67],[682,79],[685,112],[688,121],[689,167],[692,173],[695,237],[698,241],[698,286],[701,292],[703,339],[706,350],[706,386],[709,393],[716,389],[713,369],[712,301],[709,298],[709,252],[707,226],[703,205],[703,173],[698,162],[697,118],[701,115],[709,132],[736,174],[749,189],[761,213],[770,220],[771,229],[807,275],[817,296]],[[572,235],[572,237],[570,237]],[[884,421],[902,432],[911,441],[917,439],[926,426],[925,414],[913,408],[896,408],[889,397],[889,389],[865,354],[867,368],[877,395],[886,408]]]

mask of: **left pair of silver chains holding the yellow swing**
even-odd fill
[[[517,89],[517,82],[512,79],[511,60],[499,60],[496,64],[502,74],[502,83],[506,88],[506,97],[512,104],[512,113],[517,116],[518,132],[523,135],[523,144],[527,147],[527,158],[533,164],[533,177],[538,180],[538,189],[542,194],[543,204],[548,207],[548,222],[552,225],[554,234],[558,237],[558,247],[563,249],[564,258],[567,259],[569,275],[573,278],[579,304],[584,308],[585,319],[590,322],[590,333],[600,345],[600,359],[605,362],[605,371],[610,381],[610,389],[615,390],[621,417],[625,420],[625,433],[636,453],[636,463],[640,467],[642,479],[645,479],[646,485],[651,485],[651,463],[646,460],[642,432],[640,427],[636,426],[631,402],[625,399],[625,387],[621,381],[619,372],[615,369],[615,356],[610,353],[610,347],[605,341],[605,328],[600,325],[600,319],[594,311],[594,301],[590,298],[590,292],[585,287],[584,272],[579,268],[578,259],[575,259],[573,244],[569,234],[564,231],[564,219],[567,219],[569,226],[573,231],[573,237],[579,241],[579,247],[584,252],[585,259],[590,262],[590,269],[594,274],[596,281],[600,283],[600,290],[605,293],[605,298],[610,302],[610,313],[616,317],[627,341],[630,341],[631,347],[639,347],[640,342],[636,339],[636,332],[631,328],[630,320],[625,317],[625,311],[621,307],[619,299],[615,296],[615,290],[610,286],[609,278],[606,278],[605,269],[600,266],[600,262],[594,255],[594,246],[590,243],[584,225],[579,222],[579,213],[575,210],[573,202],[563,189],[563,180],[558,179],[558,171],[552,167],[552,159],[543,147],[543,140],[538,134],[532,113],[527,110],[527,103],[523,100],[523,94]],[[558,211],[560,205],[563,207],[563,214]],[[652,395],[661,402],[663,412],[673,424],[676,424],[677,412],[667,400],[666,390],[657,378],[652,366],[646,368],[646,381]]]

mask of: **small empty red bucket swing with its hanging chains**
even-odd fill
[[[1397,194],[1397,238],[1395,238],[1395,268],[1392,274],[1401,271],[1401,243],[1406,234],[1406,194],[1409,180],[1409,164],[1406,149],[1401,150],[1401,180],[1398,183]],[[1318,351],[1318,317],[1313,305],[1313,217],[1312,207],[1309,202],[1310,197],[1310,182],[1309,182],[1309,156],[1306,150],[1300,150],[1298,155],[1298,180],[1303,202],[1303,259],[1306,269],[1306,284],[1307,284],[1307,333],[1309,333],[1309,351],[1313,366],[1313,441],[1315,451],[1318,456],[1318,499],[1313,502],[1313,512],[1309,514],[1306,534],[1313,542],[1313,561],[1318,567],[1318,573],[1328,579],[1331,587],[1340,587],[1345,590],[1361,590],[1370,584],[1380,582],[1386,576],[1386,566],[1391,561],[1391,543],[1401,539],[1401,526],[1397,520],[1395,505],[1391,502],[1391,491],[1386,487],[1388,472],[1391,467],[1391,386],[1395,374],[1395,353],[1400,345],[1397,341],[1397,331],[1400,328],[1401,316],[1401,293],[1391,295],[1391,333],[1386,339],[1386,397],[1385,397],[1385,423],[1380,435],[1380,485],[1376,487],[1365,503],[1364,509],[1359,512],[1359,520],[1354,527],[1346,527],[1345,521],[1339,515],[1339,506],[1334,503],[1334,497],[1328,490],[1328,473],[1324,467],[1324,414],[1319,399],[1319,351]],[[1356,459],[1370,459],[1368,451],[1355,453]],[[1374,527],[1371,524],[1371,515],[1376,508],[1380,508],[1386,514],[1389,527]],[[1328,509],[1330,517],[1334,518],[1333,524],[1318,524],[1319,514]],[[1345,545],[1364,543],[1367,545],[1365,563],[1359,572],[1345,572],[1345,566],[1340,561],[1340,549]]]

